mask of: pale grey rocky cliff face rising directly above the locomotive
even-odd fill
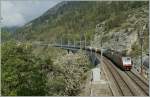
[[[148,14],[148,7],[142,6],[137,9],[128,10],[125,13],[127,18],[118,27],[106,30],[109,20],[100,23],[99,25],[103,24],[103,27],[96,28],[92,46],[101,48],[100,40],[102,39],[103,48],[125,51],[132,57],[135,65],[139,66],[141,47],[138,32],[143,32],[143,57],[145,57],[146,53],[148,53],[149,44]],[[143,27],[145,28],[143,29]]]

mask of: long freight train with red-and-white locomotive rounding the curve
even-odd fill
[[[57,46],[56,46],[57,47]],[[59,47],[59,46],[58,46]],[[66,46],[63,46],[68,47]],[[69,47],[69,48],[76,48],[76,49],[80,49],[80,47]],[[93,47],[83,47],[83,50],[86,51],[91,51],[91,52],[95,52],[100,54],[101,50],[99,48],[93,48]],[[103,56],[105,56],[106,58],[110,59],[117,67],[119,67],[122,70],[131,70],[132,69],[132,61],[131,61],[131,57],[124,55],[121,52],[117,52],[115,50],[111,50],[111,49],[104,49],[103,51]]]

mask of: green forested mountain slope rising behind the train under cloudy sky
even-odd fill
[[[63,37],[79,40],[85,35],[88,42],[94,37],[96,24],[116,18],[108,29],[119,26],[126,20],[126,11],[146,5],[148,2],[98,2],[64,1],[49,9],[39,18],[17,30],[21,39],[60,41]]]

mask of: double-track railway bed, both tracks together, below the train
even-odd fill
[[[122,71],[105,57],[103,58],[103,62],[116,81],[120,95],[149,96],[149,84],[133,71]]]

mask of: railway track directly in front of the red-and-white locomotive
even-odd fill
[[[139,76],[134,74],[132,71],[126,71],[126,74],[130,77],[132,81],[145,93],[145,95],[149,95],[149,85],[144,82]]]

